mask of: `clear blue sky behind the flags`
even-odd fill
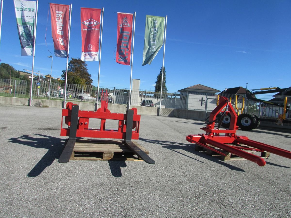
[[[40,0],[34,69],[43,75],[50,74],[47,56],[54,56],[49,3],[72,4],[69,55],[73,58],[81,57],[80,8],[104,8],[101,87],[129,88],[130,66],[115,62],[116,12],[136,12],[132,78],[140,79],[140,89],[155,89],[164,49],[151,65],[142,66],[146,15],[168,17],[164,66],[169,92],[196,84],[220,91],[246,83],[248,89],[291,86],[291,1]],[[32,68],[32,56],[21,56],[12,0],[3,3],[0,59],[16,70]],[[86,63],[97,86],[99,62]],[[66,58],[54,57],[52,69],[52,76],[61,76]]]

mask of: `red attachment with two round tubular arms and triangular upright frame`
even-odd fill
[[[229,111],[230,113],[230,126],[229,129],[221,130],[219,128],[226,111]],[[216,117],[221,112],[222,115],[220,117],[218,127],[214,129]],[[206,127],[200,128],[204,130],[206,134],[202,133],[198,135],[188,135],[186,136],[186,140],[191,143],[196,143],[196,146],[204,147],[223,156],[226,156],[225,152],[232,153],[236,156],[255,162],[259,166],[264,166],[266,164],[266,161],[260,156],[246,152],[247,150],[251,150],[254,152],[270,152],[291,159],[290,151],[250,140],[246,136],[237,136],[236,130],[238,129],[238,126],[236,125],[236,122],[237,114],[235,113],[233,106],[230,102],[228,102],[228,99],[226,97],[221,96],[219,97],[219,105],[210,113],[208,124],[206,125]],[[209,146],[208,144],[214,147]],[[225,152],[218,151],[217,149],[215,149],[215,147]]]

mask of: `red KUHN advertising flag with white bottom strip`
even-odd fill
[[[82,61],[99,60],[101,9],[81,8]]]

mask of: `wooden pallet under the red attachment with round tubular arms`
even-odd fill
[[[210,145],[208,145],[208,146],[210,146]],[[216,152],[214,152],[214,151],[212,151],[210,149],[206,149],[206,148],[204,148],[202,146],[199,146],[197,144],[195,144],[195,151],[203,151],[203,152],[206,152],[210,156],[218,156],[221,160],[224,160],[224,161],[227,161],[227,160],[246,160],[245,158],[241,158],[241,157],[236,156],[236,155],[234,155],[232,153],[229,153],[227,151],[221,150],[221,149],[219,149],[217,147],[214,147],[214,146],[210,146],[210,147],[213,148],[213,149],[215,149],[215,150],[217,150],[217,151],[220,151],[222,153],[225,153],[226,156],[223,156],[221,154],[218,154],[218,153],[216,153]],[[251,148],[250,146],[245,146],[245,147],[246,148]],[[244,150],[244,151],[246,151],[248,153],[253,153],[255,155],[260,154],[260,157],[261,158],[268,158],[270,156],[270,153],[269,152],[266,152],[266,151],[263,151],[263,152],[247,151],[247,150]]]

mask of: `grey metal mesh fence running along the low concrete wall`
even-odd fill
[[[30,82],[21,80],[0,79],[0,96],[8,97],[30,97]],[[97,87],[93,85],[67,84],[67,101],[89,101],[101,100],[101,91],[107,91],[109,94],[109,103],[129,104],[129,89],[116,87],[99,87],[100,93],[97,93]],[[33,99],[64,99],[64,84],[33,81],[32,96]],[[159,107],[160,99],[162,108],[175,108],[198,111],[212,111],[217,106],[217,94],[201,92],[154,92],[152,90],[135,90],[131,92],[131,106],[152,106]],[[283,108],[272,106],[265,103],[248,101],[244,94],[224,95],[231,101],[236,111],[240,113],[255,113],[263,118],[278,117],[283,113]],[[277,95],[256,95],[258,99],[284,103],[285,96]],[[287,98],[288,106],[291,104],[291,97]],[[243,104],[244,103],[244,104]],[[290,112],[286,118],[291,118]]]

